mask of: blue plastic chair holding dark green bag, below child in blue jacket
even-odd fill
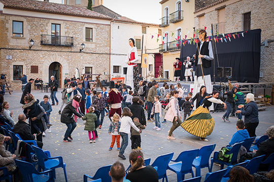
[[[242,144],[244,142],[241,142],[241,143],[237,143],[235,144],[231,150],[229,152],[227,152],[226,154],[232,154],[232,157],[231,157],[231,161],[230,162],[224,162],[224,161],[221,161],[218,159],[218,154],[219,152],[214,152],[214,155],[213,155],[213,158],[211,158],[211,169],[212,169],[212,166],[213,166],[213,163],[214,162],[218,162],[221,164],[221,169],[224,168],[224,165],[233,165],[233,164],[237,164],[237,155],[239,153],[239,149],[241,148]]]

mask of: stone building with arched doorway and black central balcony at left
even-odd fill
[[[21,74],[44,82],[54,75],[60,86],[76,68],[80,74],[83,69],[109,74],[110,17],[33,0],[0,0],[0,17],[0,70],[12,89],[20,89]],[[103,74],[101,79],[109,77]]]

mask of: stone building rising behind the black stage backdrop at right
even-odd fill
[[[196,0],[195,27],[211,24],[219,33],[261,29],[260,82],[274,81],[274,12],[273,1],[265,0]]]

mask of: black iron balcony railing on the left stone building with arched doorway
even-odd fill
[[[41,35],[41,45],[73,47],[73,37],[58,35]]]

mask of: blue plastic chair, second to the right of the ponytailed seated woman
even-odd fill
[[[185,174],[190,173],[192,177],[194,177],[194,173],[192,170],[192,162],[196,158],[199,149],[188,150],[181,152],[177,159],[171,160],[176,162],[174,164],[168,164],[167,169],[172,170],[177,174],[177,181],[181,181],[185,179]]]

